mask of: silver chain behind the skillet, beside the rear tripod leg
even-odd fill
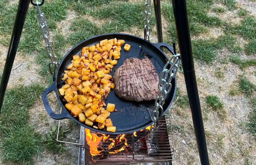
[[[149,41],[149,35],[150,35],[149,23],[151,22],[151,13],[152,13],[151,0],[144,0],[144,13],[145,13],[145,19],[143,20],[144,39]]]

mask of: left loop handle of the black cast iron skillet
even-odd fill
[[[48,93],[54,91],[57,95],[57,92],[56,91],[56,88],[55,88],[55,84],[51,85],[50,87],[48,87],[44,92],[43,92],[43,95],[42,95],[42,100],[43,100],[43,103],[44,103],[44,107],[47,111],[47,113],[49,114],[50,117],[52,117],[53,119],[56,119],[56,120],[60,120],[60,119],[65,119],[65,118],[69,118],[68,115],[69,113],[67,113],[67,111],[65,111],[63,109],[63,111],[60,113],[60,114],[56,114],[53,112],[49,102],[48,102]]]

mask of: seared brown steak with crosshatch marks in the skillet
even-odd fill
[[[159,76],[149,59],[128,58],[114,73],[115,92],[127,100],[149,101],[158,96]]]

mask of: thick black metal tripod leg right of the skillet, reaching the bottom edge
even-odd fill
[[[188,25],[186,0],[172,0],[182,67],[202,165],[209,165]]]

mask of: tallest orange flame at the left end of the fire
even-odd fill
[[[101,151],[98,151],[97,146],[99,145],[103,137],[98,137],[94,133],[91,134],[90,130],[87,128],[85,128],[85,131],[86,131],[86,141],[87,141],[87,144],[90,146],[91,155],[93,156],[100,155],[99,153]]]

